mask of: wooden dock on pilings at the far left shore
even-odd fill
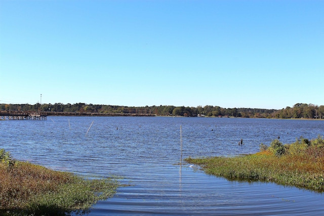
[[[0,111],[2,120],[47,120],[43,112]]]

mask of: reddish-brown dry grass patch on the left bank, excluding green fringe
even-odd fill
[[[26,162],[17,161],[10,171],[2,164],[0,206],[7,209],[24,208],[25,203],[37,194],[56,191],[60,184],[67,184],[73,178],[73,175]]]

